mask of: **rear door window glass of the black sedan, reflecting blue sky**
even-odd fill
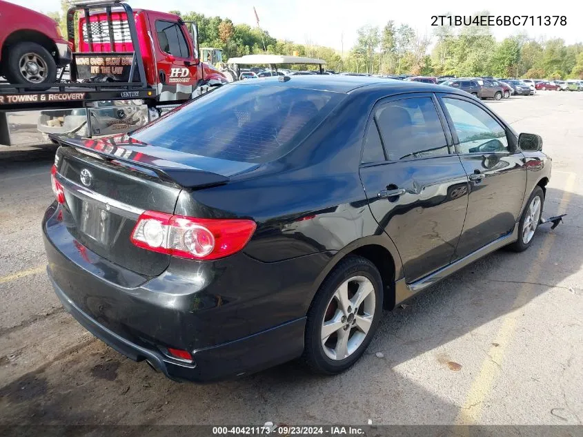
[[[442,123],[431,97],[391,101],[377,110],[375,119],[389,161],[448,153]]]

